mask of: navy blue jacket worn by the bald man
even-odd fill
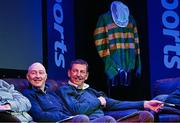
[[[30,86],[23,95],[31,102],[32,108],[29,113],[36,122],[54,122],[70,116],[61,99],[55,92],[49,91],[47,85],[46,93]]]

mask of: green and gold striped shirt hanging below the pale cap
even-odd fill
[[[125,71],[136,70],[136,74],[141,75],[138,31],[131,15],[127,27],[117,26],[110,11],[101,15],[94,31],[94,38],[109,79],[118,74],[119,68]]]

